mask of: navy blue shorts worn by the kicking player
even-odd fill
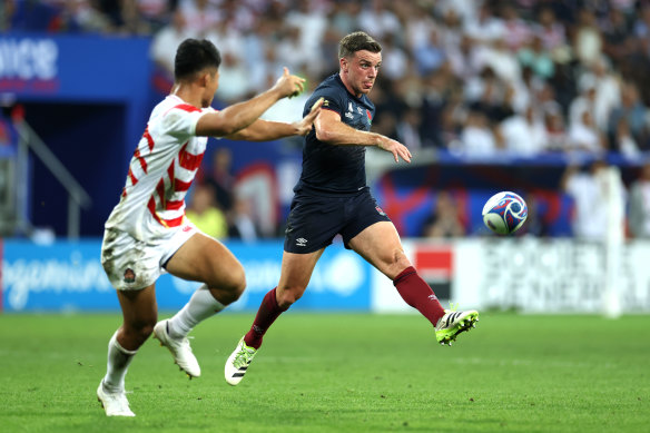
[[[287,218],[284,249],[287,253],[314,253],[332,244],[338,234],[349,248],[349,240],[366,227],[390,220],[368,188],[346,196],[297,193]]]

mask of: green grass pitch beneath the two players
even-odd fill
[[[109,419],[95,391],[120,316],[0,315],[0,431],[649,431],[650,316],[482,314],[441,347],[416,315],[288,313],[230,387],[252,318],[195,329],[194,381],[148,341],[127,376],[137,417]]]

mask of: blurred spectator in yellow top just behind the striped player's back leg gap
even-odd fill
[[[226,216],[215,206],[215,194],[208,185],[195,186],[185,215],[199,230],[215,239],[224,239],[228,235]]]

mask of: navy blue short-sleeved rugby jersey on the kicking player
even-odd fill
[[[305,104],[305,117],[314,102],[323,97],[324,110],[338,112],[341,120],[355,129],[368,131],[375,106],[366,95],[361,98],[347,91],[338,73],[326,78]],[[316,139],[312,129],[303,145],[303,174],[294,190],[304,189],[349,194],[366,187],[365,146],[328,145]]]

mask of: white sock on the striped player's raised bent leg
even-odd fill
[[[224,304],[215,299],[204,284],[189,298],[189,302],[169,319],[169,334],[175,338],[186,337],[200,322],[224,309]]]

